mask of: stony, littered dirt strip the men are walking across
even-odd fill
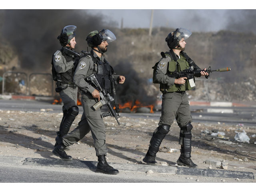
[[[71,130],[76,128],[78,115]],[[52,154],[62,113],[51,109],[44,112],[23,112],[0,110],[0,155],[25,158],[58,158]],[[121,126],[111,117],[104,118],[108,162],[142,164],[150,138],[158,126],[158,121],[146,118],[120,118]],[[256,126],[195,123],[192,130],[192,160],[198,168],[208,168],[205,161],[225,160],[227,170],[246,171],[256,174]],[[245,131],[250,143],[234,141],[236,132]],[[224,136],[213,137],[211,132],[224,132]],[[207,134],[208,133],[208,134]],[[222,139],[220,138],[222,137]],[[227,142],[228,138],[231,140]],[[163,140],[156,160],[174,165],[178,159],[179,128],[176,122]],[[70,146],[66,151],[74,159],[97,161],[91,133]],[[212,169],[221,169],[212,165]],[[147,171],[147,170],[145,170]],[[250,181],[251,182],[251,181]],[[252,182],[255,182],[253,180]]]

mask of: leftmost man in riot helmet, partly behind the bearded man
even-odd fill
[[[63,48],[74,49],[76,46],[76,26],[69,25],[62,29],[58,40],[62,48],[57,50],[52,56],[52,75],[56,81],[56,92],[60,94],[63,102],[63,118],[60,123],[58,137],[68,134],[72,122],[78,115],[77,91],[78,88],[73,81],[74,64],[76,59],[71,54],[66,54]],[[56,144],[55,144],[56,146]]]

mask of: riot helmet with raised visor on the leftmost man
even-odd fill
[[[75,30],[76,26],[74,25],[68,25],[62,29],[60,35],[57,37],[61,46],[65,46],[70,43],[70,40],[76,36],[76,33],[74,32]]]

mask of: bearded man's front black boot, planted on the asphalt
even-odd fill
[[[119,171],[117,169],[114,169],[112,166],[110,166],[106,161],[106,155],[99,155],[98,156],[98,165],[96,168],[97,173],[105,173],[105,174],[111,174],[115,175],[118,174]]]

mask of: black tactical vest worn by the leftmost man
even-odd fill
[[[52,77],[53,77],[53,80],[62,82],[64,84],[74,84],[74,82],[73,82],[74,67],[67,70],[64,73],[57,73],[55,70],[54,64],[53,64],[53,56],[54,56],[54,54],[52,55]],[[67,62],[74,60],[74,58],[71,58],[66,55],[64,55],[64,57]]]

